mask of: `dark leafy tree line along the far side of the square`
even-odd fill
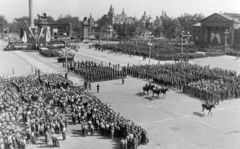
[[[145,30],[149,30],[155,37],[160,37],[160,35],[164,35],[167,38],[175,38],[180,35],[181,31],[190,31],[191,26],[201,19],[204,16],[202,14],[188,14],[184,13],[177,18],[170,17],[166,13],[160,16],[161,26],[154,26],[151,28],[146,28],[144,23],[140,20],[134,20],[133,24],[113,24],[113,29],[116,34],[124,39],[130,39],[137,35],[140,35]],[[28,22],[29,19],[27,16],[23,16],[20,18],[15,18],[17,22]],[[34,19],[34,24],[37,25],[37,19]],[[81,22],[79,17],[74,17],[71,15],[60,15],[56,20],[52,16],[47,16],[47,21],[49,23],[71,23],[73,32],[81,33]],[[95,31],[100,31],[105,28],[107,25],[110,25],[109,18],[104,15],[101,19],[95,21],[97,27],[95,27]],[[9,31],[16,32],[21,26],[17,23],[9,23],[5,19],[4,16],[0,16],[0,32],[3,32],[4,28],[8,27]],[[177,29],[177,30],[176,30]]]

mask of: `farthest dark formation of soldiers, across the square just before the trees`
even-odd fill
[[[184,49],[187,51],[184,55],[181,54],[181,48],[169,45],[165,42],[154,42],[155,46],[151,47],[151,58],[156,60],[184,60],[203,58],[208,54],[195,53],[196,48]],[[149,46],[147,42],[140,41],[137,45],[135,43],[120,43],[120,44],[94,44],[95,50],[108,51],[108,53],[125,54],[131,56],[142,56],[144,59],[149,55]],[[210,55],[209,55],[210,56]],[[212,55],[211,55],[212,56]]]

